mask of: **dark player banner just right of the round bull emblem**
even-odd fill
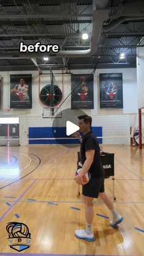
[[[93,109],[93,74],[71,75],[71,109]]]

